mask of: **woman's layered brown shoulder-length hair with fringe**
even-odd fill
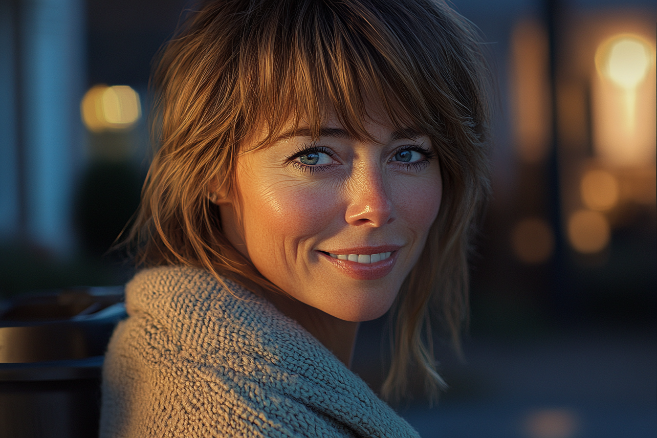
[[[263,123],[266,147],[290,117],[319,133],[328,106],[353,137],[369,137],[364,101],[374,98],[395,129],[431,138],[442,206],[392,311],[382,396],[407,391],[411,364],[436,393],[430,304],[458,347],[468,242],[489,193],[486,68],[470,23],[439,0],[208,1],[163,47],[151,85],[158,151],[129,236],[139,266],[193,265],[278,290],[222,234],[208,201],[212,183],[233,190],[240,144]]]

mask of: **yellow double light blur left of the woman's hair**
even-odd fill
[[[80,112],[89,131],[127,129],[141,117],[141,104],[127,85],[95,85],[82,98]]]

